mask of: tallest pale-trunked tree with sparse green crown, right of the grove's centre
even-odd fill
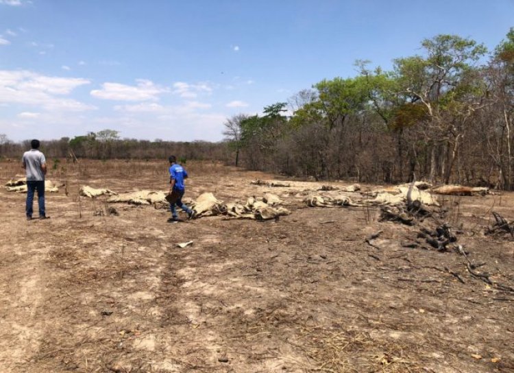
[[[452,148],[451,154],[454,157],[458,141],[463,136],[454,123],[446,120],[448,111],[455,108],[456,101],[464,96],[469,101],[468,94],[472,90],[466,77],[472,73],[474,62],[487,49],[475,40],[456,35],[438,35],[423,40],[421,45],[426,51],[426,57],[395,60],[395,74],[400,84],[398,93],[411,97],[412,104],[419,102],[426,110],[427,119],[419,124],[430,146],[430,180],[434,182],[437,149],[443,146],[443,154],[450,154]],[[472,106],[479,104],[479,101],[472,101],[467,109],[472,110]],[[441,157],[440,168],[441,174],[448,176],[451,169],[445,169],[448,167],[445,164],[447,160],[448,157]]]

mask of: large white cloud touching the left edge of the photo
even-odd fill
[[[91,110],[95,107],[65,97],[85,84],[90,82],[79,77],[51,77],[27,70],[0,70],[0,104],[24,104],[43,110]]]

